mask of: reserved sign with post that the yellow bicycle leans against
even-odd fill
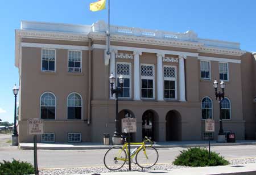
[[[131,170],[131,134],[137,132],[137,121],[136,118],[125,117],[122,118],[122,133],[128,133],[128,160],[129,170]]]

